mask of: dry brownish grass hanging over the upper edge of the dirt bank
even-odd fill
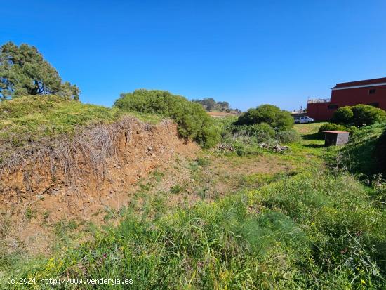
[[[83,128],[74,138],[63,135],[45,143],[36,143],[13,152],[0,167],[0,180],[4,176],[22,171],[27,189],[32,178],[39,180],[39,170],[45,166],[51,169],[51,179],[64,176],[74,185],[74,180],[81,176],[84,168],[91,169],[98,180],[105,178],[107,158],[116,153],[116,142],[120,136],[131,136],[131,126],[136,119],[124,117],[114,124],[103,124]],[[143,124],[150,130],[151,124]],[[87,164],[87,166],[82,166]],[[0,185],[1,186],[1,185]]]

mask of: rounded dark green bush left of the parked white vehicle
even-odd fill
[[[267,123],[277,131],[288,130],[293,127],[293,117],[289,112],[280,110],[274,105],[260,105],[255,109],[249,109],[242,114],[236,125],[254,125]]]

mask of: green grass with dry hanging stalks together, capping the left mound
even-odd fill
[[[142,114],[140,119],[157,123],[161,117]],[[22,169],[30,182],[41,164],[48,162],[51,179],[64,174],[67,183],[79,178],[79,154],[95,177],[105,176],[106,159],[114,152],[114,140],[135,122],[135,113],[87,105],[56,95],[25,96],[0,103],[0,190],[6,176]],[[29,164],[27,166],[27,164]],[[39,179],[39,178],[38,178]]]

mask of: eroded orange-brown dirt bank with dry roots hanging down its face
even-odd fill
[[[45,225],[62,219],[98,223],[104,209],[128,202],[130,188],[149,171],[197,150],[178,137],[172,121],[150,125],[128,118],[15,154],[1,173],[0,237],[10,248],[21,243],[44,251]]]

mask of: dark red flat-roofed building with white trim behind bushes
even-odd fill
[[[336,84],[331,88],[331,99],[308,100],[307,114],[317,121],[326,121],[339,107],[357,104],[386,110],[386,77]]]

